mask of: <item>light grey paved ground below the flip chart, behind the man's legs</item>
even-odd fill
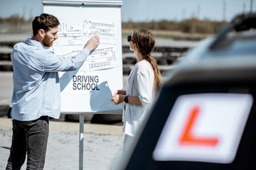
[[[5,169],[9,157],[11,127],[10,118],[0,118],[0,169]],[[122,155],[122,126],[85,123],[84,130],[83,169],[112,169]],[[26,169],[25,163],[21,170]],[[44,170],[53,169],[79,169],[79,123],[50,120]]]

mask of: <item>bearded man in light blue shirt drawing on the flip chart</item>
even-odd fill
[[[60,117],[60,83],[58,72],[78,69],[90,51],[100,44],[95,35],[80,54],[56,57],[48,47],[58,39],[58,18],[47,13],[32,23],[33,37],[14,45],[11,61],[14,68],[14,93],[11,118],[13,137],[6,169],[43,169],[48,141],[48,117]]]

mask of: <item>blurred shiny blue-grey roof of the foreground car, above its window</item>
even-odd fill
[[[256,30],[228,33],[218,47],[210,49],[214,40],[215,37],[210,37],[198,42],[196,47],[183,55],[181,61],[174,64],[174,69],[164,72],[164,77],[169,77],[171,82],[177,79],[195,81],[199,74],[204,75],[200,79],[220,81],[233,75],[240,75],[237,79],[254,77],[251,73],[256,65]],[[223,70],[226,74],[220,74]],[[211,72],[211,76],[206,72]]]

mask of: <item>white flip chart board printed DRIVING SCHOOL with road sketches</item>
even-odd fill
[[[77,55],[97,34],[100,45],[73,72],[60,72],[61,111],[64,113],[115,113],[110,98],[123,89],[122,1],[43,0],[43,12],[60,21],[53,51],[58,57]]]

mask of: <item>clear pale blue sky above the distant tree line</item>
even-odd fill
[[[70,0],[72,1],[72,0]],[[256,11],[256,0],[122,0],[122,21],[181,21],[208,18],[230,21],[243,11]],[[42,0],[0,0],[0,17],[14,14],[34,18],[43,13]]]

